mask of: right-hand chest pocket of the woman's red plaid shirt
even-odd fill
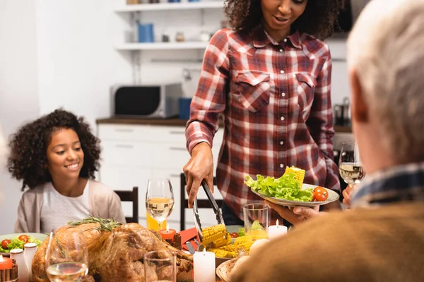
[[[311,73],[296,73],[295,87],[298,93],[298,104],[300,111],[302,111],[304,118],[305,114],[309,114],[314,101],[315,87],[317,86],[317,80]]]

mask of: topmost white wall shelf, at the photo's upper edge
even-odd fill
[[[158,4],[133,4],[115,9],[117,13],[129,13],[139,11],[168,11],[168,10],[194,10],[203,8],[224,8],[223,1],[201,1],[201,2],[177,2]]]

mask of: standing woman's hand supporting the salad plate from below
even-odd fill
[[[316,207],[283,207],[278,204],[273,204],[269,201],[265,201],[266,204],[269,204],[269,206],[274,209],[280,216],[285,219],[286,221],[289,221],[294,226],[298,225],[299,223],[302,223],[303,221],[307,219],[313,219],[317,216],[322,216],[323,214],[326,214],[326,212],[318,212],[319,206]]]

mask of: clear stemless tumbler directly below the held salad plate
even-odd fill
[[[268,204],[245,204],[245,232],[255,238],[268,238]]]

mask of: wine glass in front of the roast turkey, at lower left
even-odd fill
[[[49,281],[80,281],[88,273],[86,238],[80,227],[69,227],[61,236],[53,232],[45,256]]]

